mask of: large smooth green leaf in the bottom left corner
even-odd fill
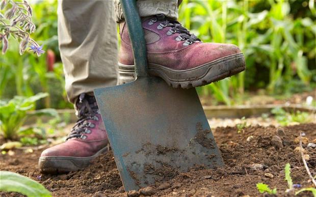
[[[0,191],[19,192],[27,196],[51,196],[43,185],[16,173],[0,171],[0,181]]]

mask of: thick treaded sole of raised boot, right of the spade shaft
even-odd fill
[[[163,78],[173,88],[194,88],[238,74],[246,69],[243,53],[198,66],[188,70],[173,70],[162,65],[148,63],[151,76]]]

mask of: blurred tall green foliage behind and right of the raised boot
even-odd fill
[[[312,78],[314,5],[314,1],[308,7],[301,1],[183,1],[181,23],[204,42],[238,45],[246,58],[245,72],[198,88],[199,93],[230,105],[242,101],[249,89],[288,94],[309,87],[316,79]]]

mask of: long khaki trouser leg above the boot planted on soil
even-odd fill
[[[59,1],[58,39],[70,102],[81,93],[116,85],[113,1]]]

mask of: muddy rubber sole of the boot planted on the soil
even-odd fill
[[[80,171],[89,166],[94,158],[107,151],[108,147],[104,147],[90,157],[44,156],[39,158],[38,166],[40,172],[43,174],[62,174],[70,171]]]

